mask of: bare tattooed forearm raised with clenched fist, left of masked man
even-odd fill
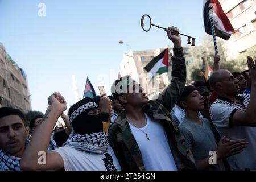
[[[57,119],[67,109],[67,106],[60,93],[53,93],[48,102],[49,106],[43,122],[36,127],[20,161],[22,170],[60,170],[64,168],[61,156],[54,151],[48,152],[47,149]],[[46,154],[46,164],[39,163],[42,153]]]

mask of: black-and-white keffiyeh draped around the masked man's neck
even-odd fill
[[[108,149],[108,134],[105,132],[86,135],[74,134],[64,146],[69,146],[82,152],[103,154]]]

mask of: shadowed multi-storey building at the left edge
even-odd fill
[[[0,43],[0,107],[14,107],[27,113],[31,110],[26,73],[9,60]]]

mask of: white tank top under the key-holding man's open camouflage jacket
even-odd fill
[[[142,131],[129,123],[146,171],[177,171],[163,126],[158,121],[152,121],[147,115],[146,118],[147,125],[141,128]],[[150,140],[143,132],[146,132],[146,127]]]

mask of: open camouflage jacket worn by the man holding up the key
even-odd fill
[[[171,117],[170,111],[183,92],[186,82],[186,67],[183,49],[174,49],[172,56],[171,84],[159,95],[158,100],[150,100],[142,109],[148,117],[157,119],[166,131],[168,143],[176,166],[181,169],[195,169],[191,148],[187,146],[181,131]],[[125,112],[119,114],[109,127],[109,144],[112,146],[122,170],[144,171],[139,146],[131,133]]]

